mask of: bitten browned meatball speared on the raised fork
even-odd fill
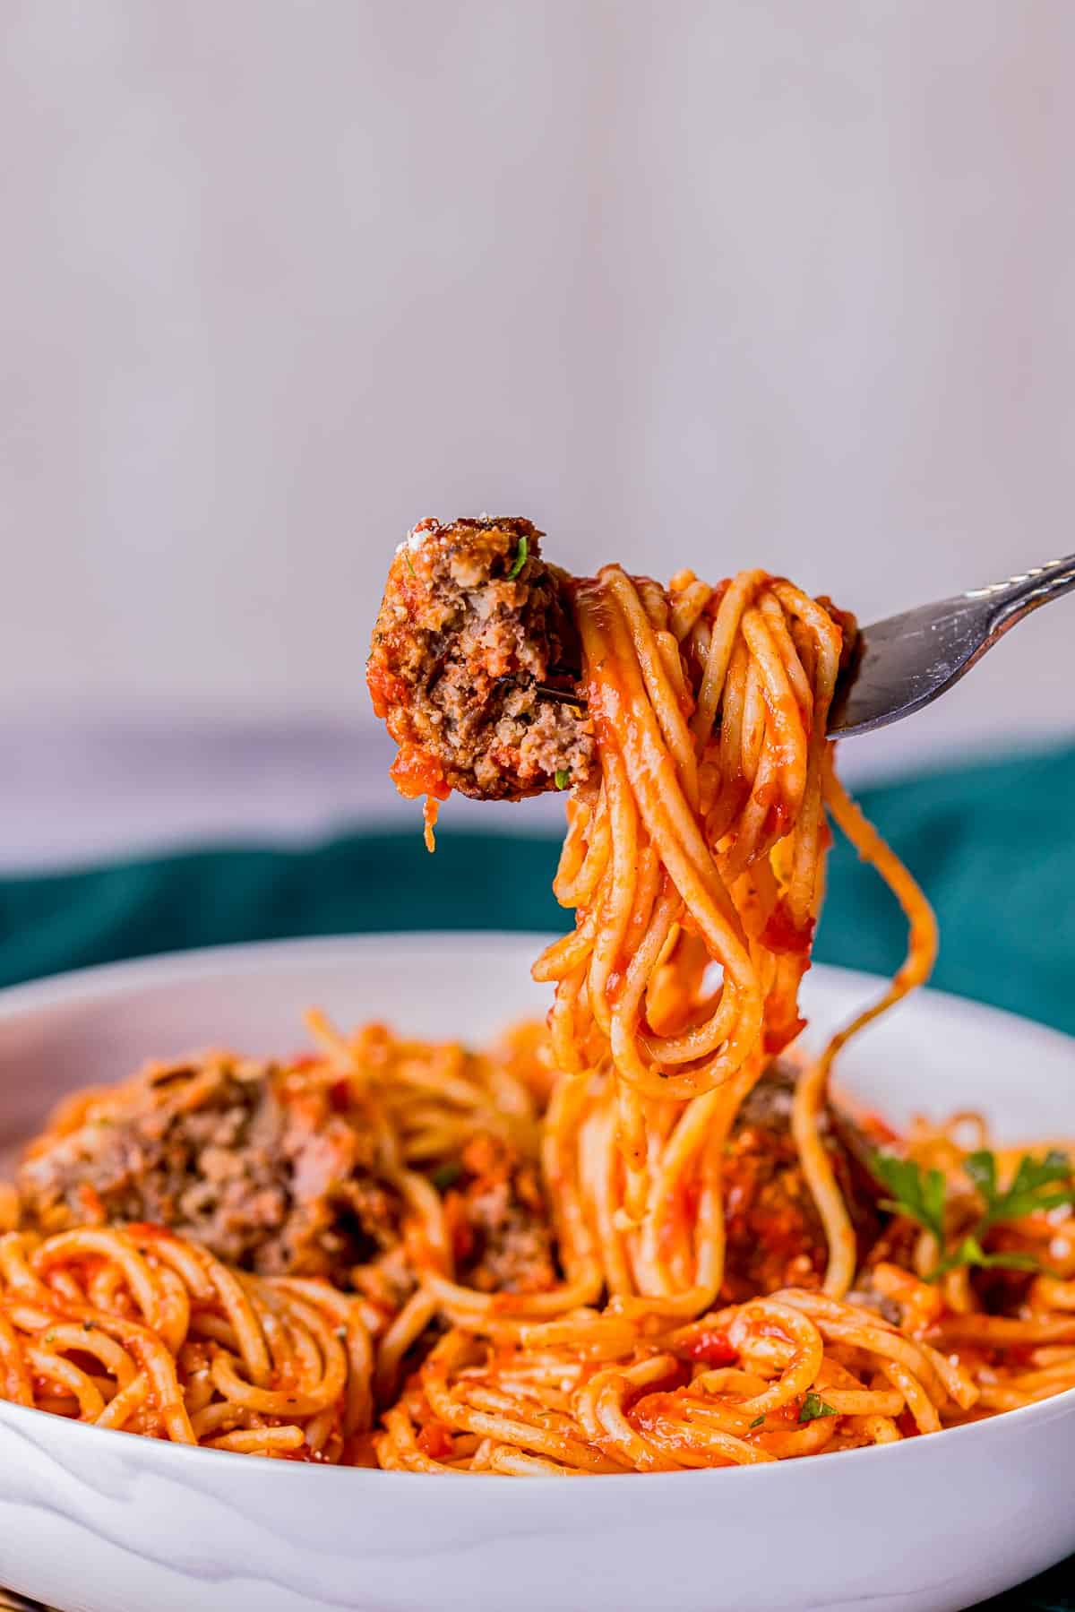
[[[403,795],[522,800],[585,782],[595,737],[574,695],[567,575],[517,517],[421,521],[388,572],[366,671],[400,746]]]

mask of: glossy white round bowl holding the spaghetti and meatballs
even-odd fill
[[[384,935],[92,969],[0,993],[0,1148],[147,1056],[303,1043],[300,1014],[480,1041],[542,1011],[525,935]],[[817,1032],[877,990],[814,969]],[[975,1106],[1075,1132],[1075,1041],[920,995],[841,1083],[896,1124]],[[967,1607],[1075,1551],[1075,1393],[772,1467],[550,1481],[190,1451],[0,1404],[0,1583],[79,1612],[777,1612]]]

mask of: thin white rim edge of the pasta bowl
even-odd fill
[[[463,946],[474,948],[503,948],[506,943],[522,945],[529,941],[532,945],[540,945],[545,933],[540,930],[384,930],[384,932],[363,932],[358,935],[305,935],[293,940],[261,940],[261,941],[239,941],[221,946],[198,946],[184,951],[164,951],[153,953],[148,956],[119,959],[114,962],[93,964],[84,969],[69,969],[58,974],[50,974],[37,980],[31,980],[19,985],[8,985],[0,990],[0,1020],[18,1019],[23,1012],[32,1012],[39,1009],[47,1009],[50,1006],[74,1004],[85,1001],[102,1001],[108,1003],[116,996],[122,996],[126,990],[137,988],[143,983],[166,985],[169,980],[176,983],[185,983],[200,978],[210,978],[219,975],[222,967],[227,967],[230,974],[256,974],[269,967],[287,969],[297,961],[316,961],[324,956],[327,961],[347,961],[348,956],[361,954],[363,951],[382,951],[387,945],[393,941],[403,941],[408,946],[443,946],[451,943],[456,949]],[[869,974],[861,969],[845,969],[833,964],[814,964],[812,972],[819,982],[832,980],[833,985],[853,987],[856,990],[862,988],[865,991],[877,990],[882,982],[880,975]],[[1054,1049],[1065,1049],[1069,1054],[1075,1053],[1075,1037],[1065,1035],[1062,1030],[1056,1030],[1051,1025],[1043,1025],[1038,1020],[1025,1019],[1022,1014],[1011,1012],[1004,1008],[993,1008],[988,1003],[975,1001],[973,998],[957,996],[953,991],[938,991],[930,987],[917,991],[909,1001],[903,1004],[904,1012],[925,1011],[943,1011],[951,1012],[964,1020],[977,1019],[982,1022],[982,1028],[988,1028],[988,1024],[996,1024],[998,1020],[1007,1022],[1009,1033],[1019,1033],[1020,1037],[1040,1041],[1041,1045],[1052,1045]],[[1059,1394],[1052,1394],[1048,1399],[1035,1401],[1033,1404],[1019,1406],[1014,1410],[1002,1410],[996,1415],[986,1417],[980,1422],[967,1422],[961,1427],[943,1428],[940,1435],[920,1435],[917,1438],[901,1440],[898,1444],[867,1444],[861,1449],[838,1451],[845,1459],[854,1457],[856,1470],[862,1467],[864,1462],[877,1460],[878,1456],[885,1457],[885,1462],[891,1465],[893,1460],[909,1460],[922,1459],[924,1443],[925,1448],[932,1449],[935,1443],[941,1451],[951,1449],[967,1449],[972,1440],[980,1443],[1006,1438],[1006,1430],[1012,1433],[1019,1430],[1031,1430],[1040,1423],[1054,1420],[1057,1417],[1065,1417],[1075,1412],[1075,1388],[1067,1388]],[[229,1465],[237,1465],[239,1470],[259,1470],[263,1462],[251,1462],[250,1456],[240,1454],[237,1451],[226,1449],[200,1449],[189,1444],[174,1444],[171,1440],[155,1440],[142,1438],[135,1433],[126,1433],[119,1428],[102,1428],[93,1427],[85,1422],[74,1422],[66,1417],[53,1415],[48,1410],[39,1410],[31,1406],[19,1406],[11,1401],[0,1401],[0,1440],[6,1431],[8,1425],[13,1431],[19,1431],[23,1427],[27,1430],[40,1417],[48,1417],[53,1423],[53,1431],[60,1433],[61,1438],[68,1436],[93,1436],[93,1438],[110,1438],[131,1441],[131,1457],[158,1460],[163,1459],[166,1464],[190,1462],[200,1465],[208,1456],[214,1462],[227,1462]],[[64,1430],[61,1431],[61,1423]],[[32,1433],[31,1441],[35,1443]],[[957,1446],[953,1446],[953,1440],[959,1440]],[[161,1454],[161,1451],[168,1454]],[[139,1456],[140,1451],[140,1456]],[[930,1457],[932,1459],[932,1457]],[[279,1460],[274,1465],[282,1469],[290,1469],[292,1472],[334,1472],[337,1473],[337,1481],[340,1475],[343,1481],[351,1483],[376,1483],[380,1486],[385,1483],[405,1485],[421,1485],[422,1493],[427,1493],[429,1485],[434,1483],[437,1489],[443,1489],[445,1473],[425,1473],[425,1472],[385,1472],[382,1469],[369,1467],[330,1467],[319,1462],[293,1462]],[[830,1464],[825,1462],[825,1469]],[[728,1478],[732,1472],[738,1472],[740,1483],[757,1481],[772,1483],[778,1481],[785,1486],[804,1481],[801,1477],[796,1478],[796,1472],[812,1472],[814,1462],[809,1459],[798,1460],[774,1460],[774,1462],[757,1462],[749,1467],[709,1467],[690,1472],[648,1472],[648,1473],[603,1473],[608,1478],[629,1478],[629,1477],[645,1477],[650,1483],[648,1493],[654,1493],[656,1486],[661,1485],[662,1489],[669,1483],[679,1483],[682,1478],[690,1477],[695,1486],[706,1483],[722,1483]],[[843,1460],[841,1460],[843,1470]],[[746,1478],[745,1473],[749,1472],[753,1478]],[[785,1473],[782,1478],[775,1478],[777,1472]],[[253,1473],[251,1473],[253,1475]],[[516,1489],[524,1491],[532,1498],[540,1491],[551,1489],[559,1493],[556,1485],[548,1483],[543,1477],[521,1477],[513,1478],[511,1483],[504,1483],[500,1473],[467,1473],[469,1486],[477,1486],[485,1493],[492,1488],[496,1494],[514,1493]],[[274,1480],[274,1481],[279,1481]],[[305,1480],[285,1480],[285,1481],[305,1481]],[[321,1480],[318,1480],[321,1481]],[[812,1480],[817,1481],[817,1480]],[[588,1486],[587,1486],[588,1488]],[[656,1498],[656,1496],[654,1496]]]

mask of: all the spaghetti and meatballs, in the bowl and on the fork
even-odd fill
[[[886,1444],[1075,1386],[1067,1156],[994,1154],[977,1116],[903,1141],[864,1122],[862,1206],[835,1136],[835,1056],[936,948],[835,775],[854,622],[761,571],[566,579],[538,538],[422,522],[371,688],[408,793],[572,783],[575,927],[533,969],[548,1032],[474,1056],[314,1014],[301,1059],[76,1099],[0,1196],[2,1398],[269,1457],[571,1477]],[[827,814],[901,903],[907,956],[787,1077],[766,1162],[746,1116],[803,1027]],[[774,1246],[748,1275],[759,1172]]]

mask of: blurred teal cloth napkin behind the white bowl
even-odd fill
[[[869,788],[859,800],[936,908],[933,983],[1075,1035],[1075,746]],[[405,833],[0,879],[0,983],[287,935],[567,927],[550,893],[553,840],[453,832],[450,804],[443,821],[432,858],[416,811]],[[838,841],[817,958],[888,972],[904,938],[891,896]],[[988,1606],[1070,1612],[1075,1559]]]

